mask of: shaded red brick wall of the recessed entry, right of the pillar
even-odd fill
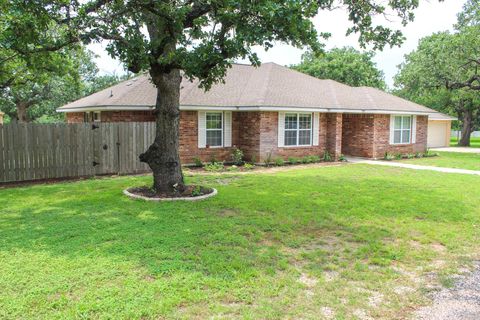
[[[344,114],[342,152],[358,157],[373,157],[375,116],[373,114]]]

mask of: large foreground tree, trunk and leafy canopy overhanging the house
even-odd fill
[[[24,3],[9,1],[7,12],[25,10]],[[221,81],[235,58],[258,65],[255,45],[268,49],[280,41],[315,51],[318,37],[325,34],[316,32],[311,18],[338,5],[348,11],[348,32],[358,33],[362,45],[373,43],[377,49],[399,44],[403,37],[398,30],[374,24],[372,17],[394,12],[406,24],[418,0],[387,5],[380,0],[43,0],[28,3],[27,10],[61,25],[57,42],[108,40],[108,52],[131,72],[149,71],[157,87],[156,137],[140,160],[152,169],[157,192],[171,193],[183,186],[178,155],[182,72],[208,89]],[[20,23],[28,25],[28,19]],[[19,39],[35,44],[30,40]]]

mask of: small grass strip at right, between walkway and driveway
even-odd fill
[[[480,153],[438,152],[438,157],[408,159],[402,162],[468,170],[480,170]]]

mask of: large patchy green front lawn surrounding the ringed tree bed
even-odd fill
[[[342,165],[0,190],[2,319],[405,318],[478,254],[480,178]],[[468,186],[468,187],[466,187]]]

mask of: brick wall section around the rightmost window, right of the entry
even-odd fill
[[[390,144],[390,116],[386,114],[375,115],[375,140],[373,158],[382,158],[385,152],[390,153],[416,153],[427,148],[428,117],[417,116],[416,143],[405,145]]]

